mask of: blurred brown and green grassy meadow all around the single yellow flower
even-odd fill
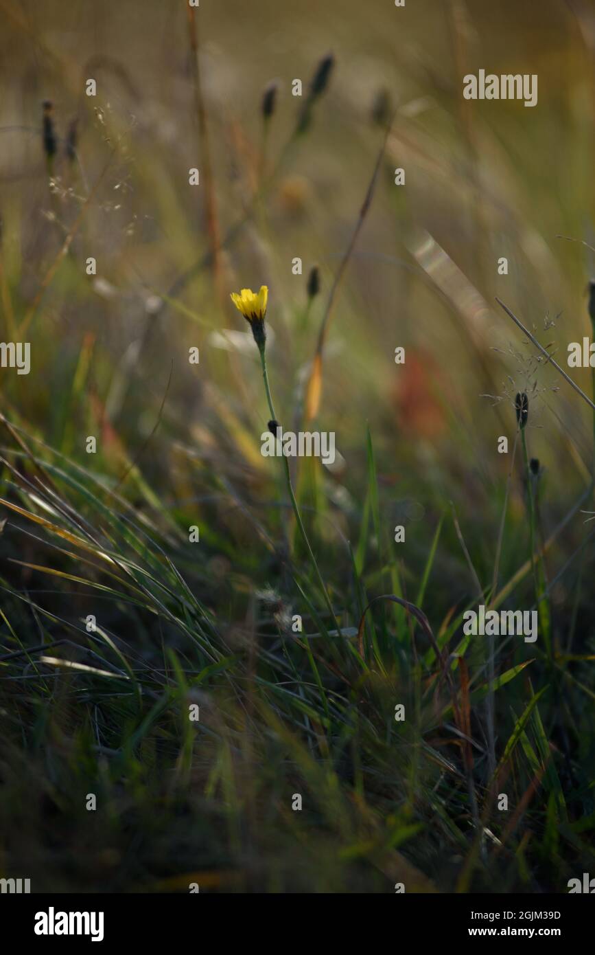
[[[563,367],[567,343],[591,333],[594,253],[581,243],[595,239],[594,13],[507,0],[203,0],[195,13],[198,100],[183,0],[0,0],[2,337],[31,342],[30,375],[0,371],[13,505],[0,538],[0,875],[58,891],[565,891],[593,864],[592,525],[579,513],[593,507],[592,416],[495,296]],[[328,53],[328,89],[292,138]],[[462,76],[481,68],[538,74],[538,105],[463,100]],[[58,138],[50,170],[44,100]],[[259,454],[269,415],[229,292],[269,286],[277,414],[297,426],[379,120],[393,113],[324,350],[316,428],[336,433],[339,467],[294,470],[351,628],[338,641],[280,467]],[[573,376],[590,394],[590,371]],[[523,391],[540,540],[565,522],[545,558],[550,649],[543,634],[496,646],[496,673],[514,672],[494,694],[506,814],[490,783],[485,641],[461,646],[460,615],[478,582],[490,590],[504,506],[496,593],[534,605],[518,446],[511,471]],[[400,606],[370,611],[359,656],[359,616],[382,593],[423,605],[441,647],[459,647],[471,690],[453,658],[447,689]],[[295,613],[321,636],[297,639]],[[201,720],[189,726],[194,699]]]

